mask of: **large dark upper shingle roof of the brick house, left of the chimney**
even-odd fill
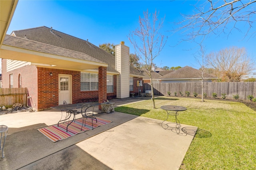
[[[90,43],[88,40],[82,40],[46,26],[13,31],[11,35],[84,53],[96,60],[107,63],[108,72],[118,73],[115,69],[115,56]],[[140,76],[138,71],[134,71],[133,74]]]

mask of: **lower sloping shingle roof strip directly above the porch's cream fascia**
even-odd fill
[[[11,45],[14,47],[20,47],[20,48],[24,48],[24,49],[30,49],[33,51],[39,51],[39,52],[43,52],[43,53],[61,55],[61,56],[65,56],[65,57],[75,58],[75,59],[83,59],[86,61],[93,61],[93,62],[97,62],[97,63],[104,63],[98,59],[95,59],[95,58],[93,58],[89,55],[86,55],[84,53],[81,53],[81,52],[72,51],[69,49],[28,40],[26,38],[20,38],[20,37],[6,35],[4,38],[3,44]]]

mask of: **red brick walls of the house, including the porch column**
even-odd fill
[[[52,76],[50,76],[50,72]],[[72,75],[72,103],[95,102],[106,99],[116,99],[116,75],[114,75],[114,93],[106,93],[106,67],[99,68],[99,90],[80,91],[80,71],[36,67],[25,67],[6,73],[6,59],[2,59],[3,88],[9,88],[9,75],[13,74],[14,87],[19,86],[19,74],[22,77],[22,87],[28,88],[28,106],[36,110],[58,106],[58,75]]]

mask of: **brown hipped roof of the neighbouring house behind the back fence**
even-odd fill
[[[166,74],[158,79],[198,79],[201,77],[202,72],[198,69],[194,69],[192,67],[186,66],[181,69],[175,70],[169,74]],[[204,78],[207,79],[217,79],[217,77],[210,75],[208,73],[204,73]]]

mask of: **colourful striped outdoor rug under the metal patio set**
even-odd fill
[[[108,121],[106,119],[102,119],[100,117],[96,117],[96,118],[97,118],[97,123],[96,123],[96,120],[94,119],[93,120],[93,128],[103,126],[103,125],[106,125],[106,124],[112,122],[112,121]],[[86,119],[86,126],[83,125],[83,128],[81,130],[82,122],[83,122],[82,118],[76,119],[76,122],[72,122],[68,126],[68,132],[66,132],[68,121],[65,123],[60,123],[59,126],[52,125],[52,126],[45,127],[45,128],[39,128],[37,130],[39,132],[41,132],[42,134],[44,134],[44,136],[46,136],[48,139],[52,140],[52,142],[56,142],[58,140],[63,140],[63,139],[69,138],[71,136],[74,136],[78,133],[82,133],[84,131],[92,129],[92,119],[90,119],[90,118]]]

